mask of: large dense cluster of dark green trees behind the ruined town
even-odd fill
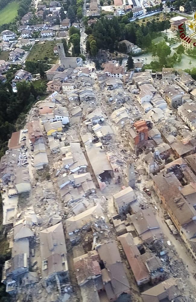
[[[146,25],[139,25],[135,22],[130,23],[127,15],[113,17],[112,20],[102,17],[91,27],[86,27],[88,34],[86,49],[92,56],[95,56],[99,49],[108,49],[110,52],[114,52],[119,49],[119,41],[122,40],[128,40],[147,49],[160,31],[169,27],[168,20],[155,21],[153,19],[148,21]]]

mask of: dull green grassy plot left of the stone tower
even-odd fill
[[[59,42],[59,41],[58,41]],[[53,48],[55,47],[57,42],[55,41],[45,41],[39,42],[33,45],[33,48],[30,51],[30,54],[27,57],[27,61],[43,61],[46,57],[49,60],[50,64],[58,63],[58,57],[55,56],[53,52]]]

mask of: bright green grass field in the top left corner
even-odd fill
[[[19,2],[11,2],[0,10],[0,25],[10,23],[17,16]]]

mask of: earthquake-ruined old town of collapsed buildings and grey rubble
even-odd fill
[[[57,49],[46,72],[54,92],[1,158],[6,292],[19,301],[194,301],[196,82],[112,61],[102,71],[78,58],[68,67]]]

